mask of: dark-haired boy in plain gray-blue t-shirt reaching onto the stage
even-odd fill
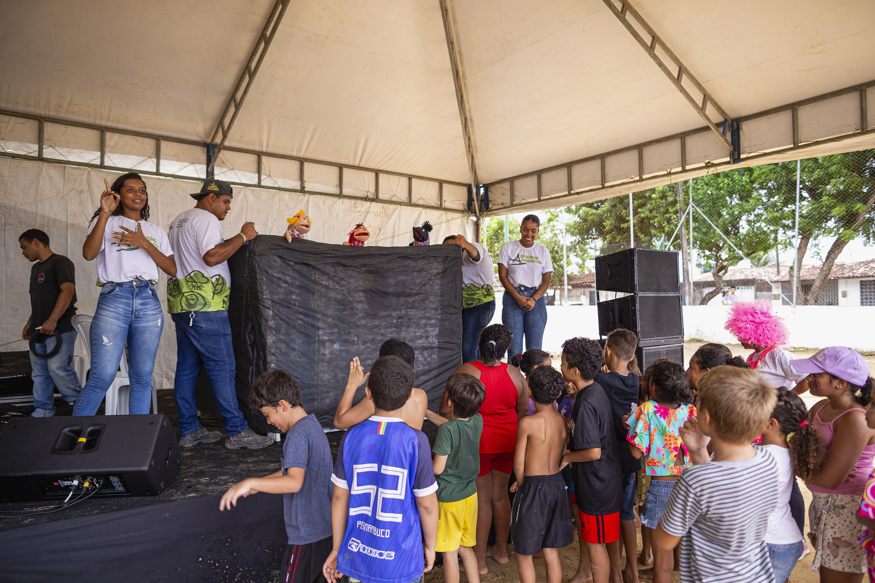
[[[225,492],[219,510],[230,510],[241,496],[257,492],[283,495],[288,546],[283,556],[284,581],[311,583],[322,577],[332,552],[331,448],[316,417],[304,411],[297,379],[288,372],[267,371],[255,378],[249,403],[268,423],[285,432],[282,467],[263,478],[247,478]]]

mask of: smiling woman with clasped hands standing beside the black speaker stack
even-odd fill
[[[520,240],[507,241],[498,253],[498,277],[505,289],[501,302],[501,323],[513,335],[507,354],[541,348],[547,325],[547,305],[543,296],[553,274],[553,260],[547,247],[535,243],[541,219],[529,214],[522,218]]]

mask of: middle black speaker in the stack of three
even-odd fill
[[[683,337],[680,294],[635,294],[598,302],[598,334],[632,330],[640,341]]]

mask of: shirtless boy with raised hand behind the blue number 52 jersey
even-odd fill
[[[397,338],[389,338],[380,346],[381,357],[399,357],[405,363],[413,368],[416,362],[416,355],[413,348]],[[354,357],[353,362],[349,363],[349,380],[346,381],[346,389],[343,391],[343,396],[337,406],[337,411],[334,413],[334,428],[349,429],[353,425],[358,425],[362,421],[371,418],[376,409],[374,401],[369,397],[365,397],[359,401],[359,404],[353,406],[353,397],[355,391],[367,381],[370,376],[368,372],[365,374],[364,367],[359,362],[359,357]],[[429,406],[429,398],[422,389],[413,389],[413,393],[404,406],[401,408],[401,418],[410,427],[414,429],[423,428],[423,420],[425,419],[425,410]]]

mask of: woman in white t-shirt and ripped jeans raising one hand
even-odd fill
[[[149,195],[143,178],[129,172],[101,195],[82,246],[86,260],[97,260],[101,295],[91,322],[91,372],[73,415],[94,415],[116,378],[125,344],[129,351],[130,413],[149,413],[152,371],[164,310],[155,284],[158,268],[176,275],[167,233],[150,223]]]

